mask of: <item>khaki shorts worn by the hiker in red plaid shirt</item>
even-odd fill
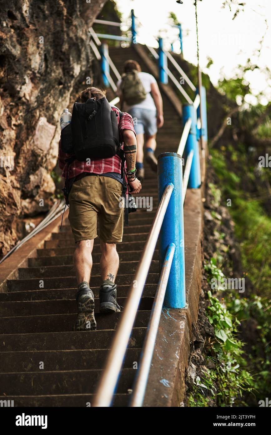
[[[102,175],[88,175],[73,183],[69,193],[69,222],[75,243],[98,237],[106,243],[122,241],[122,184]]]

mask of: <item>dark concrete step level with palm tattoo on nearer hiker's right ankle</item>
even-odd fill
[[[134,274],[117,275],[117,282],[123,284],[132,284]],[[157,284],[159,280],[159,274],[150,273],[147,277],[146,284]],[[40,282],[42,281],[42,282]],[[100,275],[92,275],[90,285],[91,287],[98,287],[102,283]],[[39,280],[38,278],[28,279],[13,279],[7,281],[8,291],[25,291],[27,290],[50,290],[50,288],[76,288],[76,278],[74,276],[65,278],[44,278]]]

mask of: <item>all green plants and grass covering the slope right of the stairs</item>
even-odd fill
[[[212,166],[221,182],[221,189],[215,184],[209,184],[211,204],[216,208],[220,203],[225,204],[227,198],[232,199],[229,211],[235,222],[235,234],[240,241],[244,274],[251,281],[252,291],[246,298],[236,291],[223,291],[221,301],[208,291],[211,305],[207,308],[207,317],[215,328],[217,338],[217,343],[211,343],[211,350],[209,348],[207,353],[215,362],[208,382],[212,381],[217,387],[211,399],[216,398],[218,406],[255,405],[259,398],[268,397],[271,385],[271,219],[264,213],[259,200],[249,196],[245,198],[247,192],[241,189],[239,177],[227,169],[223,154],[218,150],[212,150],[211,154]],[[205,265],[209,284],[212,278],[219,280],[225,277],[222,271],[225,261],[227,262],[221,254],[216,253],[215,258],[211,258]],[[247,343],[237,338],[239,327],[245,330],[246,325],[252,325]],[[205,385],[207,388],[208,385]],[[204,404],[205,395],[202,387],[195,385],[190,406],[193,406],[193,400],[194,406],[208,406]]]

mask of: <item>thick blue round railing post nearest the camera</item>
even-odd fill
[[[165,292],[164,306],[185,308],[185,246],[184,218],[182,203],[182,158],[177,153],[163,153],[158,156],[158,192],[161,201],[165,187],[173,184],[169,205],[165,212],[159,236],[160,268],[164,263],[169,244],[176,249]]]

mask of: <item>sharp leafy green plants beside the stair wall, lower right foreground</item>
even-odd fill
[[[225,278],[215,258],[205,265],[205,271],[208,283],[211,283],[212,278]],[[250,393],[255,388],[253,376],[247,370],[247,361],[243,356],[244,343],[237,338],[240,313],[238,309],[229,309],[231,304],[228,305],[228,299],[231,299],[228,292],[219,301],[208,291],[206,315],[215,336],[205,345],[205,353],[207,361],[212,361],[213,368],[208,368],[207,373],[196,378],[188,397],[188,406],[210,406],[212,403],[221,407],[246,406],[244,392]]]

